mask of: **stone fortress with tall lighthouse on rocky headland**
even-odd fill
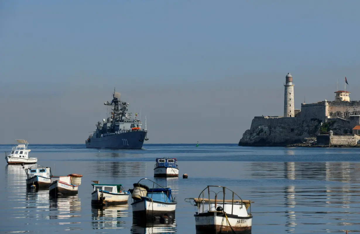
[[[255,116],[239,146],[309,145],[309,142],[316,142],[315,137],[320,139],[318,144],[325,145],[360,142],[357,135],[360,134],[357,130],[360,129],[360,101],[350,101],[350,92],[336,91],[334,101],[302,103],[300,110],[294,109],[294,85],[290,73],[285,77],[284,87],[284,116]]]

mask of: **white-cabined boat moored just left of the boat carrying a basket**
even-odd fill
[[[51,183],[51,168],[43,166],[32,166],[25,169],[26,172],[26,186],[31,187],[35,185],[36,188],[48,188]]]

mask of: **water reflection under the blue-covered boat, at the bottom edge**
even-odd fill
[[[138,222],[136,219],[132,221],[131,234],[168,234],[176,233],[176,223],[154,222]]]

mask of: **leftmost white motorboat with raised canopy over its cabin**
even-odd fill
[[[37,162],[37,158],[29,157],[31,150],[28,150],[28,142],[26,140],[15,140],[18,142],[11,150],[11,153],[5,152],[5,160],[8,164],[33,164]]]

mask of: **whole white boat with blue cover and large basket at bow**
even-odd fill
[[[149,188],[147,185],[140,184],[141,180],[134,184],[133,189],[129,190],[134,199],[134,202],[131,203],[133,218],[154,220],[155,217],[160,217],[164,220],[175,220],[177,202],[172,197],[171,188],[164,188],[152,180],[149,180],[153,183],[152,188]],[[157,188],[154,188],[155,185]]]

